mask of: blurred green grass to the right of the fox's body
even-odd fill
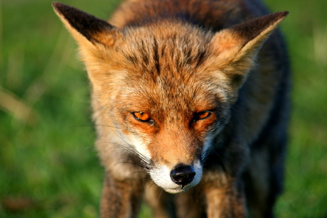
[[[293,113],[279,217],[327,217],[326,1],[269,0],[291,11],[282,28],[293,64]]]

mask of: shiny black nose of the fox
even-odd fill
[[[191,165],[178,165],[174,170],[171,170],[171,180],[177,185],[188,185],[194,176],[195,171]]]

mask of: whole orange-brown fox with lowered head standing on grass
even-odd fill
[[[109,21],[53,2],[90,80],[100,216],[274,217],[291,70],[258,0],[127,0]]]

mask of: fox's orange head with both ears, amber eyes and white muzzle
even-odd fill
[[[126,152],[139,156],[152,180],[171,193],[200,182],[205,156],[260,46],[287,15],[214,33],[171,20],[117,28],[64,4],[53,7],[80,45],[95,122],[115,127],[114,134],[99,127],[99,137],[127,143]],[[102,159],[113,158],[101,147]]]

